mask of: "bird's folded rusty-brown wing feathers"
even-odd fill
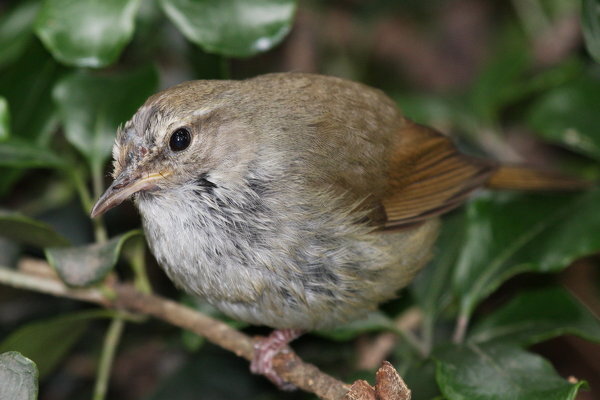
[[[390,188],[382,201],[385,228],[402,228],[462,204],[496,169],[461,154],[450,139],[406,121],[390,160]]]

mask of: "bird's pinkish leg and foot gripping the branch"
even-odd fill
[[[273,357],[302,333],[299,329],[276,329],[266,338],[258,339],[254,343],[254,358],[250,363],[250,371],[254,374],[266,376],[280,389],[296,389],[294,385],[284,381],[277,375],[273,369]]]

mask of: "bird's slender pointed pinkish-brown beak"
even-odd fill
[[[132,177],[129,171],[123,171],[104,192],[92,209],[92,218],[104,214],[142,190],[156,188],[156,182],[167,177],[168,173],[152,173]]]

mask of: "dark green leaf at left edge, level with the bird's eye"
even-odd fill
[[[65,168],[52,150],[23,141],[0,142],[0,166],[15,168]]]

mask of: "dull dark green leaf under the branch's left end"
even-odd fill
[[[31,322],[6,337],[0,343],[0,352],[18,351],[34,360],[43,378],[77,343],[92,319],[110,318],[114,313],[112,310],[83,311]]]

